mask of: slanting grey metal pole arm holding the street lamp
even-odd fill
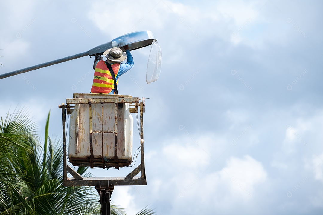
[[[79,53],[79,54],[74,54],[74,55],[71,55],[71,56],[68,56],[68,57],[63,57],[63,58],[60,58],[60,59],[55,60],[55,61],[49,61],[47,63],[38,64],[36,66],[30,66],[30,67],[27,67],[25,69],[19,69],[19,70],[10,72],[10,73],[5,73],[5,74],[0,75],[0,79],[7,78],[7,77],[10,77],[10,76],[14,76],[14,75],[18,75],[18,74],[21,74],[21,73],[26,73],[26,72],[29,72],[29,71],[32,71],[32,70],[35,70],[35,69],[40,69],[40,68],[51,66],[51,65],[54,65],[54,64],[59,64],[59,63],[65,62],[65,61],[74,60],[76,58],[84,57],[84,56],[87,56],[87,55],[89,55],[89,51],[82,52],[82,53]]]

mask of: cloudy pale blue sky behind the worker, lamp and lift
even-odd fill
[[[119,94],[145,97],[147,186],[115,187],[136,214],[322,214],[322,1],[2,1],[0,74],[86,52],[134,31],[150,47]],[[62,137],[58,105],[89,93],[89,56],[0,80],[0,116],[28,110],[44,136]],[[135,116],[134,116],[135,118]],[[134,127],[136,128],[136,127]],[[134,136],[134,144],[138,144]],[[91,171],[126,176],[129,168]]]

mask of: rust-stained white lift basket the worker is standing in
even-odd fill
[[[73,166],[129,166],[133,134],[130,103],[138,98],[90,93],[74,93],[73,98],[79,102],[70,115],[68,158]]]

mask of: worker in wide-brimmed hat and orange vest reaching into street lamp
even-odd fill
[[[134,65],[129,46],[125,45],[122,49],[111,48],[103,53],[107,60],[99,60],[95,66],[91,93],[118,94],[118,91],[115,91],[115,86],[118,84],[120,75],[129,71]],[[126,58],[127,63],[120,64]],[[110,73],[111,69],[115,75],[116,85],[112,77],[113,74]]]

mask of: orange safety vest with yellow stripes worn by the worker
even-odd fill
[[[118,63],[111,64],[111,67],[115,74],[115,77],[117,77],[117,74],[120,69],[120,64]],[[118,80],[117,80],[117,84],[118,84]],[[111,76],[111,73],[107,65],[105,64],[105,61],[100,60],[95,66],[91,93],[109,94],[111,93],[112,89],[114,89],[114,81]]]

